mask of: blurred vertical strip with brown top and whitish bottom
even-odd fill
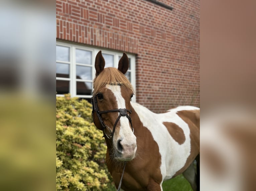
[[[255,1],[201,1],[201,190],[255,190]]]

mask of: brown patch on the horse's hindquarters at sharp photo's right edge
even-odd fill
[[[188,124],[191,150],[185,165],[174,176],[184,172],[200,153],[200,110],[182,110],[178,111],[177,115]]]

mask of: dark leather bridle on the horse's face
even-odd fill
[[[116,125],[117,125],[117,122],[119,121],[119,119],[122,117],[122,116],[126,116],[131,124],[131,128],[132,128],[132,132],[134,132],[134,129],[132,127],[132,119],[129,115],[129,113],[131,114],[132,111],[129,110],[129,109],[126,109],[126,108],[119,108],[119,109],[110,109],[110,110],[105,110],[105,111],[99,111],[99,108],[98,108],[98,100],[97,100],[97,93],[95,95],[92,96],[92,103],[93,103],[93,110],[92,110],[92,116],[93,116],[93,122],[95,124],[95,120],[94,120],[94,112],[97,114],[98,118],[99,118],[99,121],[103,127],[103,132],[104,132],[104,135],[103,137],[107,137],[109,139],[113,139],[113,136],[114,136],[114,132],[115,132],[115,128],[116,128]],[[113,131],[111,131],[111,129],[105,125],[105,123],[103,122],[102,118],[101,118],[101,114],[102,113],[109,113],[109,112],[116,112],[118,111],[119,112],[119,116],[117,117],[116,119],[116,122],[114,123],[114,126],[113,126]],[[129,112],[129,113],[127,113]],[[96,125],[96,124],[95,124]],[[110,136],[108,136],[108,134],[106,133],[106,128],[108,128],[108,130],[111,132],[110,133]]]

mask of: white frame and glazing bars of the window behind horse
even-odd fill
[[[114,67],[118,68],[118,62],[119,58],[123,56],[123,52],[120,51],[112,51],[112,50],[107,50],[105,48],[94,48],[89,45],[81,46],[81,45],[76,45],[73,43],[63,43],[63,42],[58,42],[56,41],[56,46],[64,46],[64,47],[69,47],[70,49],[70,62],[63,62],[63,61],[57,61],[58,63],[63,63],[63,64],[69,64],[70,66],[70,76],[69,78],[60,78],[56,77],[56,80],[65,80],[70,82],[70,94],[71,97],[81,97],[81,98],[91,98],[92,95],[77,95],[77,83],[76,82],[92,82],[93,85],[93,79],[95,78],[95,57],[97,53],[101,50],[102,54],[110,54],[114,56]],[[86,65],[83,64],[83,66],[87,67],[92,67],[92,80],[83,80],[83,79],[76,79],[76,49],[81,49],[81,50],[86,50],[86,51],[91,51],[92,52],[92,65]],[[130,72],[130,78],[131,78],[131,84],[134,89],[136,90],[136,70],[135,70],[135,55],[134,54],[129,54],[126,53],[128,58],[130,58],[130,69],[128,69],[128,72]],[[78,64],[79,65],[79,64]],[[56,96],[64,96],[62,94],[56,94]],[[132,97],[132,102],[136,102],[136,95]]]

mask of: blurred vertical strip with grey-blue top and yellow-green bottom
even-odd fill
[[[55,189],[55,3],[1,1],[0,187]]]

